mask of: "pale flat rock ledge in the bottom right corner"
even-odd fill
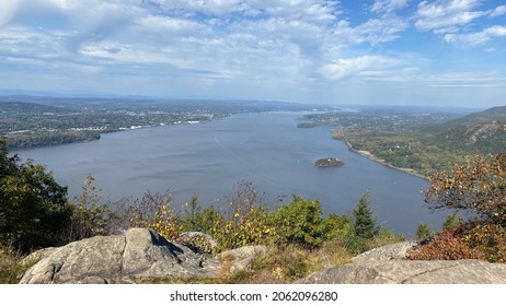
[[[406,260],[414,243],[361,254],[352,263],[325,269],[299,284],[506,284],[506,264],[481,260]]]

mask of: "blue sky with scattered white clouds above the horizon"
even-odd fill
[[[506,2],[0,0],[0,92],[506,104]]]

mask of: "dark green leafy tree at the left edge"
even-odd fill
[[[59,244],[70,215],[67,187],[44,166],[8,156],[0,138],[0,244],[23,252]]]

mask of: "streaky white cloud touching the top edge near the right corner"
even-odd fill
[[[459,26],[487,14],[486,11],[474,11],[480,4],[479,0],[423,1],[418,4],[415,14],[415,26],[438,34],[456,32]]]

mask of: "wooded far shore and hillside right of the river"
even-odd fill
[[[468,116],[430,109],[377,108],[306,116],[336,127],[334,138],[365,155],[426,176],[449,169],[472,154],[502,152],[506,107]],[[369,155],[370,154],[370,155]]]

